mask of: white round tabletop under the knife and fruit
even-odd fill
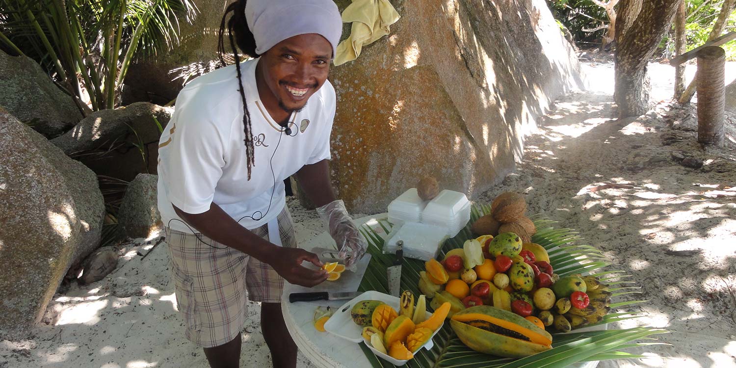
[[[370,220],[385,219],[386,213],[366,216],[355,220],[356,224],[372,223]],[[379,231],[379,230],[377,230]],[[383,233],[383,231],[381,231]],[[305,250],[314,247],[335,247],[335,242],[328,233],[321,233],[306,244],[300,244]],[[317,302],[289,302],[289,294],[294,288],[286,283],[281,298],[281,311],[289,329],[291,338],[297,344],[300,352],[304,354],[316,367],[323,368],[371,368],[372,365],[366,358],[363,350],[354,342],[334,336],[328,332],[319,332],[314,329],[314,309],[319,305],[329,305],[335,310],[342,306],[347,300],[320,300]],[[573,368],[595,368],[598,361],[589,361],[573,364]]]

